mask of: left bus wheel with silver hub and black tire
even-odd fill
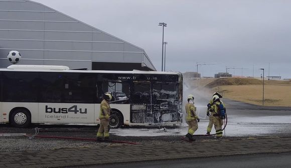
[[[11,124],[18,128],[25,128],[31,124],[31,114],[25,108],[13,110],[11,114]]]

